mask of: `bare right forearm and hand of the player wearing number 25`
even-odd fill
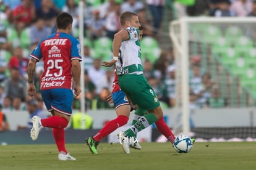
[[[80,87],[80,76],[81,76],[81,66],[80,66],[80,60],[73,59],[72,60],[72,75],[75,82],[75,95],[79,95],[81,92]]]

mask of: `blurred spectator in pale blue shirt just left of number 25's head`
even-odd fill
[[[45,25],[43,18],[36,18],[33,25],[30,26],[30,42],[31,44],[37,44],[42,38],[45,38],[51,34],[49,26]]]

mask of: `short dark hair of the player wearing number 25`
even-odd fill
[[[65,30],[70,23],[73,23],[73,18],[67,12],[61,12],[56,18],[56,26],[58,29]]]

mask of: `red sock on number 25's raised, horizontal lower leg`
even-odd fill
[[[43,127],[64,128],[69,124],[69,121],[59,116],[51,116],[49,118],[41,119],[41,124]]]

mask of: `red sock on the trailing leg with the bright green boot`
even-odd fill
[[[118,127],[124,126],[124,124],[126,124],[128,120],[129,118],[127,116],[117,116],[116,119],[109,121],[95,136],[93,136],[93,139],[100,142],[103,137],[108,136]]]

